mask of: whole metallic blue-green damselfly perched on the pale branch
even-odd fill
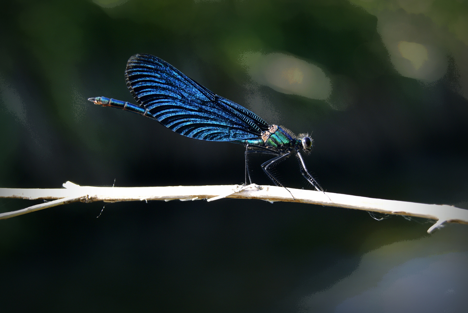
[[[296,137],[286,128],[267,123],[245,107],[214,94],[174,66],[149,54],[130,57],[125,80],[138,105],[106,97],[88,100],[146,116],[187,137],[243,144],[246,185],[247,181],[251,183],[249,154],[274,156],[261,167],[275,185],[282,187],[271,170],[278,162],[295,154],[302,176],[315,190],[323,191],[307,171],[300,153],[310,153],[312,139],[309,135]]]

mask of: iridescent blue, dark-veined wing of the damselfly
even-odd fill
[[[149,115],[181,135],[234,141],[256,138],[268,130],[268,123],[256,114],[215,95],[159,57],[130,57],[125,80]]]

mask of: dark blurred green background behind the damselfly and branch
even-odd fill
[[[329,192],[468,208],[464,0],[17,0],[0,17],[0,187],[242,183],[241,145],[86,100],[134,103],[125,64],[150,53],[311,134]],[[278,176],[311,188],[293,158]],[[3,312],[463,312],[466,225],[234,199],[96,219],[102,206],[0,221]]]

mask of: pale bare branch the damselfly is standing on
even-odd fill
[[[143,200],[201,200],[213,201],[221,198],[262,199],[270,202],[289,201],[337,206],[386,214],[398,214],[423,217],[437,222],[427,230],[442,227],[445,222],[468,224],[468,210],[454,206],[423,204],[395,200],[383,200],[350,196],[332,192],[313,190],[287,190],[276,186],[259,186],[255,184],[216,185],[216,186],[174,186],[174,187],[92,187],[80,186],[72,182],[63,184],[65,189],[13,189],[0,188],[0,198],[18,199],[58,199],[30,206],[22,210],[1,213],[0,219],[37,211],[51,206],[82,201],[143,201]],[[293,197],[292,197],[293,196]]]

